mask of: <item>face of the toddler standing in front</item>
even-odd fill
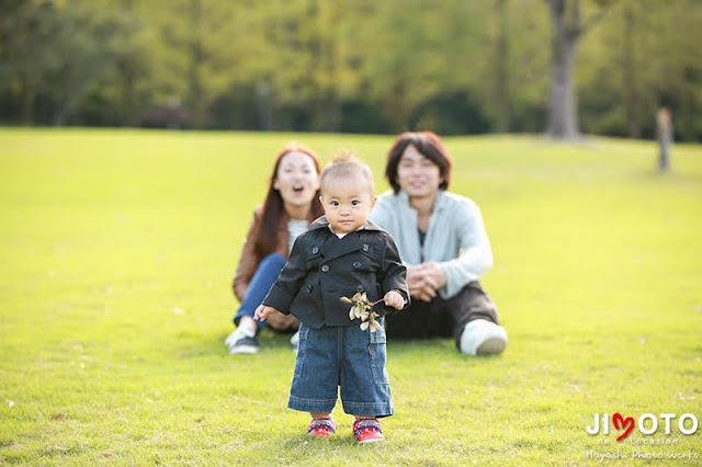
[[[336,234],[349,234],[366,223],[376,197],[367,180],[352,175],[327,180],[319,200],[331,229]]]

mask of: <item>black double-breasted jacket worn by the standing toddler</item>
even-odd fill
[[[362,229],[339,239],[321,216],[295,240],[287,264],[263,305],[292,314],[310,328],[358,326],[359,319],[349,319],[351,305],[340,298],[365,292],[370,301],[376,301],[387,292],[397,291],[408,304],[406,275],[388,232],[367,221]],[[382,301],[373,310],[381,316],[388,311]]]

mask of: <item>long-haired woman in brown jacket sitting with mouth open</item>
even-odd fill
[[[234,276],[234,295],[241,305],[234,317],[237,328],[225,341],[231,354],[258,352],[257,335],[264,326],[281,332],[297,330],[297,319],[292,315],[259,322],[253,320],[253,312],[285,265],[297,236],[324,214],[319,174],[317,156],[304,146],[291,143],[275,159],[265,202],[253,210]]]

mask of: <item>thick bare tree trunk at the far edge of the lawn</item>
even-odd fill
[[[546,0],[553,23],[551,95],[546,135],[553,139],[578,139],[578,104],[575,93],[575,57],[579,31],[578,2],[573,22],[566,20],[565,0]]]

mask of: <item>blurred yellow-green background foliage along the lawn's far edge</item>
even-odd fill
[[[581,129],[702,139],[702,3],[584,1]],[[542,132],[543,0],[5,0],[5,124]]]

